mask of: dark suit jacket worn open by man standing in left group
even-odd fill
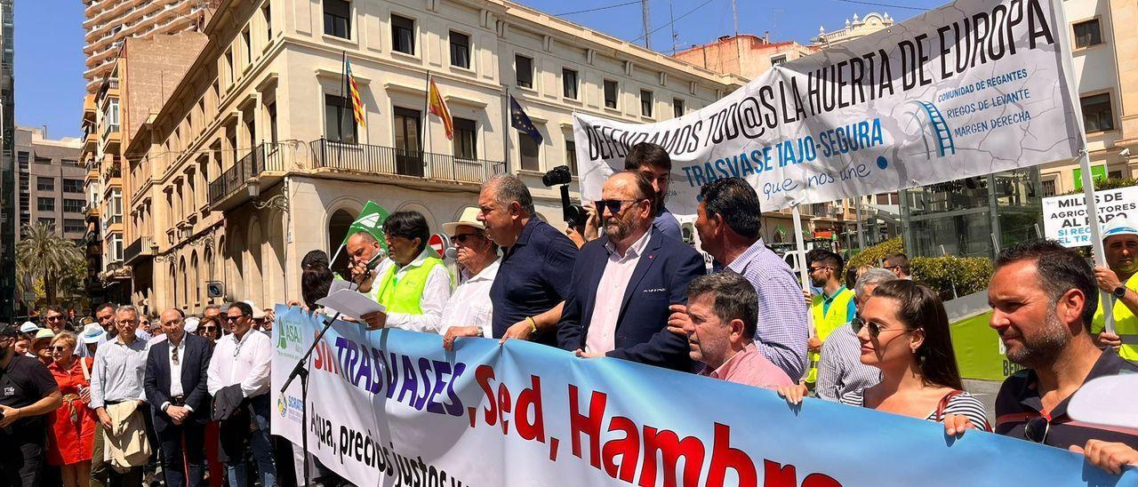
[[[209,369],[209,357],[213,347],[209,340],[193,333],[185,333],[185,350],[179,356],[182,364],[182,396],[185,405],[193,408],[189,421],[205,423],[209,421],[209,391],[206,389],[206,371]],[[173,421],[159,407],[170,401],[170,340],[162,340],[150,346],[146,361],[146,379],[142,383],[146,398],[154,407],[154,428],[163,431]],[[184,424],[184,423],[183,423]]]

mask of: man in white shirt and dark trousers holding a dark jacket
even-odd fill
[[[221,460],[225,462],[229,485],[245,487],[248,469],[245,448],[251,443],[261,485],[277,485],[277,467],[269,439],[267,393],[273,356],[272,339],[253,330],[253,307],[246,303],[230,305],[225,321],[230,335],[217,340],[214,347],[207,372],[207,388],[212,396],[217,396],[222,389],[239,388],[245,403],[221,422]],[[254,421],[256,430],[250,431],[250,423]]]

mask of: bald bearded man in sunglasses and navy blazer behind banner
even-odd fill
[[[634,172],[604,183],[596,212],[605,236],[585,244],[558,322],[558,344],[578,356],[609,356],[691,370],[687,341],[668,332],[668,306],[686,303],[706,272],[687,244],[652,230],[655,192]]]

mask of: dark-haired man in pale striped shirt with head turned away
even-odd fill
[[[794,272],[762,242],[759,236],[759,196],[747,181],[727,178],[700,190],[695,231],[700,247],[754,287],[759,295],[759,320],[754,341],[759,353],[799,379],[806,372],[808,328],[806,303]],[[686,336],[691,320],[683,305],[673,305],[668,329]]]

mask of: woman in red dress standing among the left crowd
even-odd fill
[[[75,336],[68,332],[52,338],[50,347],[55,362],[48,370],[59,382],[64,404],[51,413],[48,462],[59,465],[65,487],[85,486],[91,477],[94,446],[96,416],[88,407],[92,358],[75,355]]]

